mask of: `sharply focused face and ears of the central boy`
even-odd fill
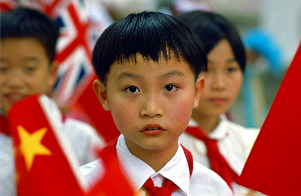
[[[93,87],[132,151],[177,145],[192,108],[198,105],[203,83],[203,77],[194,83],[185,61],[172,57],[168,62],[147,62],[137,55],[137,63],[112,64],[106,89],[99,80]]]

